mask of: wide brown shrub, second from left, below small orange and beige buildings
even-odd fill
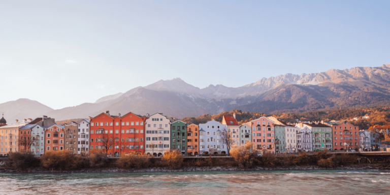
[[[41,157],[46,169],[69,170],[75,168],[76,156],[68,151],[48,151]]]

